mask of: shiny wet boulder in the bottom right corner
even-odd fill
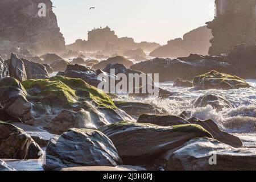
[[[168,153],[168,152],[167,152]],[[210,138],[192,139],[164,156],[170,171],[238,171],[256,169],[255,148],[233,148]]]

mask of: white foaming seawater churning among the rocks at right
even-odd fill
[[[256,80],[246,80],[252,87],[232,90],[196,90],[195,88],[174,88],[173,82],[160,82],[159,87],[174,94],[171,98],[160,100],[156,97],[132,98],[121,96],[118,100],[138,101],[162,107],[169,114],[179,115],[182,111],[191,111],[192,117],[201,120],[212,119],[218,126],[229,133],[251,135],[256,133]],[[222,96],[233,108],[217,111],[212,106],[197,107],[196,98],[205,94]]]

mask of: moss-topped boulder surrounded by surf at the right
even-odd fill
[[[197,89],[239,89],[249,88],[245,80],[240,77],[220,73],[217,71],[210,71],[204,75],[196,76],[193,80],[193,85]]]

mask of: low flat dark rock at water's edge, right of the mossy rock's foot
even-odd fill
[[[114,104],[119,109],[134,117],[139,117],[142,114],[167,114],[167,111],[164,109],[142,102],[114,101]]]

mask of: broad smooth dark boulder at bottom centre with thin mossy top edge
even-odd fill
[[[101,127],[99,130],[112,140],[126,164],[150,163],[157,156],[182,146],[188,140],[212,137],[199,125],[163,127],[121,122]]]

